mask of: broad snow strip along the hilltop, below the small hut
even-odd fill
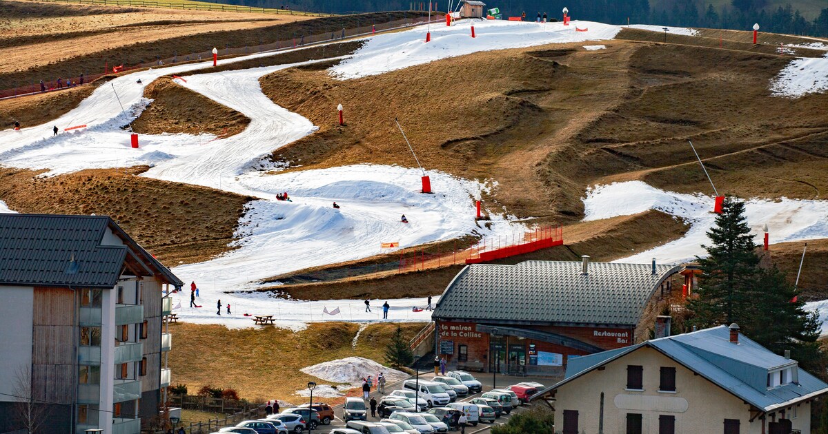
[[[589,31],[575,31],[576,26]],[[329,71],[337,79],[356,79],[478,51],[610,40],[620,30],[619,26],[592,21],[570,21],[570,26],[564,26],[562,22],[462,20],[454,26],[431,27],[428,43],[425,26],[375,36]]]

